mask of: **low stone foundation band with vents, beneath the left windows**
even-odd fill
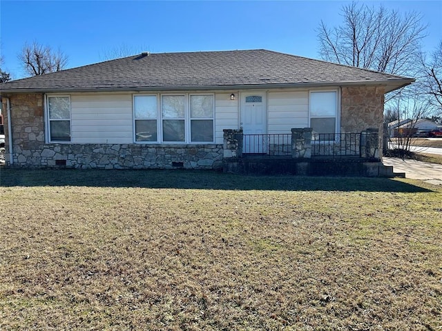
[[[41,144],[15,148],[15,168],[222,169],[222,145]]]

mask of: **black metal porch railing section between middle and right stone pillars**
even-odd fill
[[[312,157],[361,157],[361,133],[312,133]]]

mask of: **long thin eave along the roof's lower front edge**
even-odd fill
[[[391,81],[347,81],[317,83],[267,83],[216,86],[142,86],[142,87],[103,87],[103,88],[8,88],[0,94],[8,93],[74,93],[74,92],[153,92],[153,91],[193,91],[193,90],[255,90],[285,88],[327,88],[336,86],[385,86],[385,93],[410,85],[415,79],[394,79]]]

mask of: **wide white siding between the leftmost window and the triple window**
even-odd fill
[[[132,94],[71,95],[73,143],[132,143]]]

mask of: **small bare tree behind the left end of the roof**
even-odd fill
[[[18,59],[31,76],[63,70],[68,63],[67,55],[61,50],[54,51],[50,46],[43,46],[36,41],[32,45],[26,43]]]

